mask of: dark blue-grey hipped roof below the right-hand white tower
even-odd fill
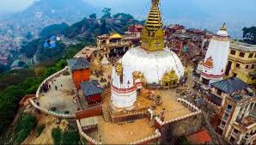
[[[210,85],[214,88],[221,90],[226,94],[233,94],[237,91],[241,91],[243,89],[248,88],[247,83],[241,81],[237,77],[231,77],[229,79],[222,80],[220,82],[214,82],[214,83],[211,83]]]

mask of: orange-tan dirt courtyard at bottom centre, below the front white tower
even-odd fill
[[[155,133],[155,129],[149,127],[148,119],[135,120],[134,123],[111,124],[106,123],[101,116],[98,118],[98,130],[87,133],[88,136],[95,140],[104,142],[105,144],[124,144],[127,142],[135,142]]]

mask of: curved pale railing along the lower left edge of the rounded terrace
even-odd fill
[[[29,99],[29,103],[34,107],[34,109],[36,109],[36,110],[38,110],[40,112],[44,112],[47,115],[51,115],[51,116],[56,117],[56,118],[67,118],[67,119],[74,119],[74,118],[76,118],[75,114],[63,114],[63,113],[59,113],[59,112],[48,111],[48,110],[46,110],[46,109],[36,105],[36,103],[32,99]]]

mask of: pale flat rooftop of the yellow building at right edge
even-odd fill
[[[237,42],[237,41],[233,41],[230,45],[231,49],[235,49],[238,51],[256,51],[256,45],[250,45],[247,43],[242,43],[242,42]]]

